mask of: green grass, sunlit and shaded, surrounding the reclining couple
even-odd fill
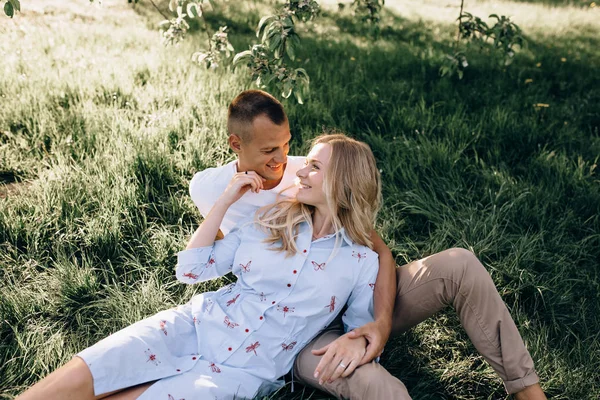
[[[204,32],[162,47],[146,3],[31,1],[0,25],[0,398],[228,279],[185,287],[173,270],[200,221],[189,179],[233,158],[226,107],[251,82],[190,63]],[[368,142],[384,180],[378,230],[398,264],[472,249],[549,397],[597,399],[600,10],[493,3],[529,45],[509,68],[467,48],[461,81],[438,75],[457,9],[386,2],[376,41],[326,9],[301,29],[311,96],[284,102],[292,154],[323,129]],[[491,4],[466,9],[485,16]],[[235,7],[209,22],[227,23],[239,50],[269,5]],[[382,362],[414,399],[506,397],[451,312],[394,338]],[[273,398],[326,397],[298,387]]]

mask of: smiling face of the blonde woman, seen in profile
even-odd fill
[[[296,172],[300,179],[300,189],[296,195],[299,202],[315,207],[327,206],[323,180],[330,158],[331,145],[328,143],[319,143],[310,150],[304,167]]]

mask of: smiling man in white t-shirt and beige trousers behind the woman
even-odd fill
[[[280,192],[295,196],[293,182],[304,163],[304,157],[287,156],[291,139],[287,116],[282,105],[265,92],[240,93],[229,106],[227,129],[229,146],[238,158],[198,172],[190,182],[192,200],[206,216],[238,172],[255,171],[264,180],[264,190],[245,193],[229,208],[221,225],[223,234],[259,207],[274,202]],[[337,324],[328,327],[296,360],[294,373],[301,382],[338,398],[410,399],[402,382],[372,360],[383,351],[390,332],[403,332],[452,304],[507,392],[515,393],[518,400],[546,398],[506,306],[471,252],[450,249],[396,268],[391,252],[375,232],[372,239],[380,260],[375,322],[347,334]],[[357,357],[346,351],[345,343],[360,336],[368,346]]]

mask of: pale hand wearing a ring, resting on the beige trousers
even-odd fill
[[[314,355],[323,355],[315,369],[315,378],[319,379],[319,384],[333,382],[339,377],[345,378],[354,372],[363,359],[366,345],[364,337],[350,339],[348,334],[345,334],[327,346],[313,350]]]

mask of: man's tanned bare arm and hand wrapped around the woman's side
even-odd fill
[[[383,352],[392,330],[392,314],[396,302],[396,261],[377,232],[371,232],[371,240],[373,241],[373,251],[379,255],[379,272],[373,294],[375,322],[370,322],[348,333],[350,338],[364,336],[369,342],[367,352],[359,365],[370,362]]]

